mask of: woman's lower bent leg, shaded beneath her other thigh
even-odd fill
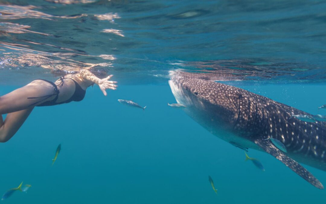
[[[0,115],[0,142],[7,142],[25,122],[34,106],[25,110],[8,113],[5,121]]]

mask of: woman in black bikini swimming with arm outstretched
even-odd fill
[[[115,81],[109,81],[113,75],[99,79],[91,71],[60,77],[54,83],[45,79],[36,79],[0,97],[0,142],[7,142],[22,126],[35,106],[50,106],[72,101],[82,101],[87,87],[97,84],[104,96],[106,89],[116,89]],[[5,120],[2,115],[7,114]]]

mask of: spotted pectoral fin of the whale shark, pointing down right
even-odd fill
[[[277,149],[269,140],[257,139],[254,141],[259,147],[264,149],[267,153],[273,155],[276,159],[280,160],[283,164],[288,166],[292,171],[301,176],[304,180],[319,189],[324,189],[323,184],[320,183],[307,169],[305,169],[298,162],[294,161],[281,150]]]

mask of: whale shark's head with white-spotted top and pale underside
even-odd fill
[[[237,93],[230,86],[194,77],[180,71],[170,72],[169,85],[178,103],[186,106],[185,112],[207,128],[233,129],[239,104]]]

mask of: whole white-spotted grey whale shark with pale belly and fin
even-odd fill
[[[298,162],[326,171],[326,122],[304,122],[308,115],[291,106],[241,88],[172,72],[169,85],[178,103],[196,122],[217,137],[273,155],[319,189],[324,186]],[[287,153],[267,138],[281,141]],[[298,162],[296,162],[295,160]]]

